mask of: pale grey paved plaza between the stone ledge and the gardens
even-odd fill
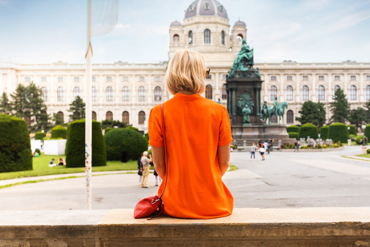
[[[273,151],[261,161],[249,161],[249,152],[231,153],[239,169],[223,181],[234,197],[234,207],[365,207],[370,205],[370,162],[343,158],[361,152],[360,146],[327,152]],[[171,171],[170,171],[171,172]],[[64,174],[68,176],[68,174]],[[3,181],[4,183],[4,181]],[[92,177],[92,208],[134,208],[154,193],[140,188],[137,174]],[[22,184],[0,189],[0,210],[84,209],[84,178]]]

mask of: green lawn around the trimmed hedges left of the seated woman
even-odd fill
[[[58,156],[44,155],[33,157],[32,171],[13,171],[9,173],[0,173],[0,180],[19,178],[19,177],[35,177],[53,174],[80,173],[85,172],[85,167],[67,168],[63,166],[48,167],[51,158],[55,158],[54,163],[57,163]],[[63,156],[65,158],[65,156]],[[119,170],[136,170],[138,168],[137,161],[131,160],[127,163],[120,161],[107,161],[107,166],[92,167],[92,171],[119,171]]]

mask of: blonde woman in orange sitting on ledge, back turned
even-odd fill
[[[168,181],[162,196],[164,214],[178,218],[218,218],[232,212],[233,197],[221,177],[229,167],[232,141],[228,111],[203,98],[209,74],[204,57],[177,50],[166,72],[174,97],[163,104],[168,158]],[[148,121],[149,144],[158,176],[165,177],[161,107]],[[164,189],[159,186],[158,194]]]

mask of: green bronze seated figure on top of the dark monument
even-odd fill
[[[260,78],[261,74],[257,69],[253,69],[253,49],[250,49],[245,39],[242,40],[242,49],[236,54],[234,64],[229,71],[228,79],[233,79],[235,77],[236,70],[248,71],[252,70],[256,77]],[[250,71],[250,72],[252,72]]]

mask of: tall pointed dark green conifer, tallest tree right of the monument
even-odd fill
[[[330,110],[333,116],[331,122],[346,123],[350,120],[350,106],[343,90],[337,89],[333,96],[333,102],[330,103]]]

